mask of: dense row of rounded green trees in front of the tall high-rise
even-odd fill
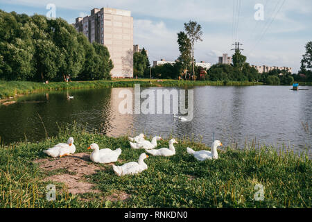
[[[110,79],[113,67],[105,46],[64,19],[0,10],[0,80]]]

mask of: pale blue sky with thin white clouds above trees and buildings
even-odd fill
[[[233,54],[234,42],[241,42],[250,65],[292,67],[297,73],[304,46],[312,41],[311,0],[1,0],[0,9],[46,15],[49,3],[55,4],[56,17],[69,23],[90,15],[93,8],[130,10],[133,43],[148,50],[151,64],[179,57],[177,33],[190,20],[202,26],[202,42],[195,44],[198,62],[215,64],[222,53]]]

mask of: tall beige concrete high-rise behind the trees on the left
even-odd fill
[[[133,77],[133,17],[130,11],[94,8],[91,15],[76,18],[73,25],[89,42],[107,46],[114,63],[113,78]]]

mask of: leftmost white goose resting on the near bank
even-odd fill
[[[71,155],[75,153],[75,151],[76,146],[73,145],[73,137],[69,137],[67,144],[57,144],[43,152],[51,157],[64,157],[65,155]]]

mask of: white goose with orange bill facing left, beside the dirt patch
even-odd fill
[[[116,162],[119,155],[121,155],[121,148],[117,148],[114,151],[110,150],[109,148],[103,148],[100,150],[98,144],[91,144],[88,147],[88,150],[89,149],[94,150],[90,155],[90,159],[92,160],[92,162],[97,162],[100,164],[109,164],[110,162]]]

